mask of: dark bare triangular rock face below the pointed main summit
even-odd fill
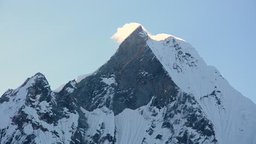
[[[153,96],[156,96],[154,104],[158,107],[174,100],[166,94],[177,95],[177,86],[147,46],[147,35],[139,33],[143,33],[141,27],[119,46],[95,75],[78,83],[73,95],[79,99],[79,105],[89,111],[106,106],[118,115],[125,108],[134,110],[147,105]],[[102,82],[102,78],[109,77],[113,77],[116,84],[108,86]],[[104,89],[106,86],[108,88]],[[102,104],[104,97],[107,100]]]

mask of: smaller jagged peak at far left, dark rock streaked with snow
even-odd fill
[[[78,126],[78,114],[63,109],[66,117],[49,122],[56,115],[55,95],[45,77],[38,73],[15,90],[8,90],[0,103],[0,143],[70,143]],[[59,135],[56,135],[59,134]]]

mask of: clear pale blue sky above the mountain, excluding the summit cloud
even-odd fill
[[[256,1],[0,0],[0,95],[40,71],[51,88],[91,73],[113,55],[118,27],[192,44],[208,65],[256,103]]]

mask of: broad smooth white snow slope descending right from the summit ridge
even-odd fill
[[[159,41],[149,38],[147,44],[176,85],[195,96],[213,122],[220,143],[256,143],[255,104],[207,65],[194,47],[172,36]],[[217,99],[206,97],[213,92]]]

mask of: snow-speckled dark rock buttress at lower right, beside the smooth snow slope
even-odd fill
[[[215,136],[213,125],[209,119],[203,116],[201,107],[192,95],[187,93],[178,94],[174,104],[167,107],[168,109],[164,115],[165,122],[162,127],[167,127],[173,131],[173,125],[184,125],[184,128],[179,131],[179,135],[175,137],[179,143],[199,143],[197,139],[194,139],[195,134],[188,133],[189,128],[197,131],[201,136],[205,136],[205,140],[217,143],[215,137],[212,139],[212,136]],[[171,141],[167,141],[167,143]]]

